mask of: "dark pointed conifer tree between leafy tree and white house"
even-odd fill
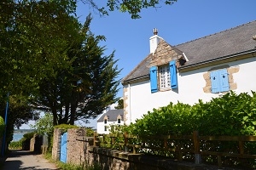
[[[55,67],[55,76],[39,85],[38,109],[51,111],[54,125],[74,124],[101,114],[117,98],[119,70],[113,54],[104,55],[99,42],[105,39],[90,32],[90,15],[68,46],[70,67]],[[79,38],[78,38],[79,37]]]

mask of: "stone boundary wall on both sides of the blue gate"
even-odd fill
[[[61,129],[54,130],[52,158],[60,160]],[[194,162],[174,161],[168,157],[131,154],[120,150],[93,147],[84,128],[67,130],[67,162],[76,165],[99,165],[102,170],[239,170]]]

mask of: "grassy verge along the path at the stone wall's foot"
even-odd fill
[[[61,170],[101,170],[101,167],[99,165],[93,165],[93,166],[88,166],[88,165],[74,165],[72,163],[63,163],[61,161],[54,161],[51,158],[51,153],[47,153],[44,155],[44,158],[55,163],[55,165]]]

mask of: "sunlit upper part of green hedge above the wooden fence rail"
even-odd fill
[[[143,115],[129,127],[136,135],[192,134],[256,135],[256,94],[235,94],[195,105],[177,103]]]

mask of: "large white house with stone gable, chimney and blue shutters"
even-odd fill
[[[255,40],[256,21],[176,46],[154,29],[150,53],[122,80],[125,124],[170,102],[256,91]]]

